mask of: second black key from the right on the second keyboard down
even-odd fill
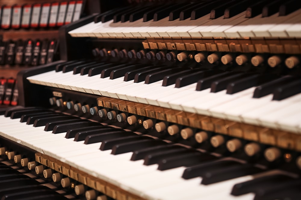
[[[279,79],[260,85],[255,89],[253,98],[260,98],[271,94],[275,90],[275,88],[281,87],[282,85],[290,83],[296,79],[297,78],[293,76],[284,76]]]

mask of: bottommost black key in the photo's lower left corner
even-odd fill
[[[2,196],[2,200],[18,200],[18,199],[23,199],[25,196],[26,197],[34,197],[34,196],[40,196],[40,195],[55,195],[55,196],[60,196],[59,193],[53,191],[53,190],[27,190],[27,191],[17,191],[15,193],[11,194],[6,194]]]

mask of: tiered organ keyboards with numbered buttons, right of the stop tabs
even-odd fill
[[[61,198],[299,200],[298,2],[119,3],[18,74],[1,162]]]

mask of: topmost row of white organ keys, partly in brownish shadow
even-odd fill
[[[202,37],[300,37],[300,11],[287,16],[276,13],[262,18],[245,18],[245,12],[228,19],[223,16],[210,19],[210,14],[196,20],[168,21],[168,17],[157,22],[91,22],[69,32],[73,37],[98,38],[202,38]]]

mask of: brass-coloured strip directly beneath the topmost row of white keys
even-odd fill
[[[147,39],[144,49],[300,54],[299,39]]]

